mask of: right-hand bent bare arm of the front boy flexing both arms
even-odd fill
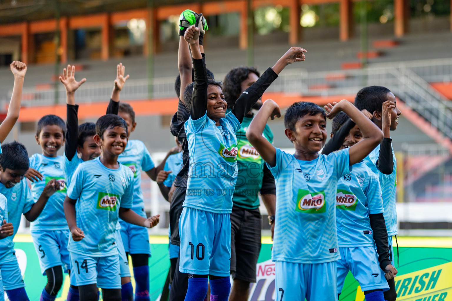
[[[363,160],[383,139],[383,133],[367,116],[358,110],[351,102],[346,99],[341,100],[338,103],[333,103],[331,111],[327,114],[327,117],[332,119],[340,111],[344,111],[353,121],[358,125],[359,129],[363,133],[364,139],[353,145],[348,150],[350,157],[350,165],[356,164]]]

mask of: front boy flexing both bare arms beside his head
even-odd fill
[[[319,154],[326,141],[326,117],[340,111],[363,129],[364,139],[328,156]],[[296,102],[284,116],[285,134],[295,147],[291,155],[262,136],[268,117],[280,115],[276,102],[265,101],[246,133],[276,179],[275,300],[336,301],[337,184],[380,143],[383,134],[347,100],[335,104],[328,115],[314,103]]]

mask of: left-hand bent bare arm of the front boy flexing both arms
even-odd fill
[[[276,165],[276,148],[271,144],[262,133],[264,133],[265,125],[267,124],[268,117],[272,120],[275,117],[281,117],[281,111],[276,102],[271,99],[267,99],[259,112],[253,118],[246,131],[246,138],[256,148],[259,155],[268,163],[271,167]]]

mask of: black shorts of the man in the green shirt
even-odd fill
[[[259,208],[232,206],[231,275],[232,279],[256,282],[256,264],[261,245]],[[238,267],[238,268],[237,268]]]

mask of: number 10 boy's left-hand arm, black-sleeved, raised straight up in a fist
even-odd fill
[[[192,51],[193,69],[195,74],[192,104],[190,107],[190,116],[193,120],[198,120],[204,116],[207,111],[207,68],[206,61],[199,49],[199,33],[199,28],[192,25],[187,28],[184,34],[184,39],[188,42],[190,50]]]

